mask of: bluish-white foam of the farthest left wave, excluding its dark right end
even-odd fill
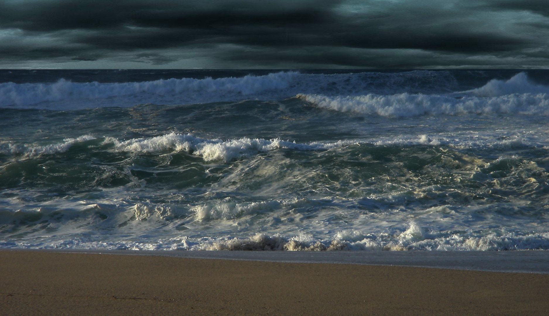
[[[242,78],[182,78],[128,83],[76,83],[64,79],[55,83],[8,82],[0,83],[0,106],[27,107],[55,101],[103,100],[128,96],[141,97],[137,101],[157,97],[153,100],[161,102],[163,97],[174,96],[182,99],[182,103],[185,100],[197,103],[206,100],[223,101],[264,91],[285,89],[298,75],[297,72],[277,72],[265,76],[249,75]],[[136,100],[129,101],[132,101],[130,105],[136,104]],[[120,106],[120,104],[117,105]],[[72,109],[79,107],[86,107],[86,105],[76,106],[72,103]]]

